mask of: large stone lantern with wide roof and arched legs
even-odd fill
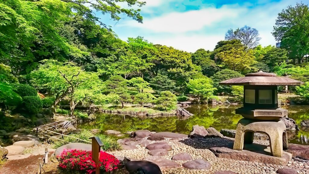
[[[243,150],[243,143],[253,143],[254,133],[265,133],[269,137],[273,156],[282,157],[283,149],[288,149],[286,125],[279,120],[287,117],[288,111],[278,107],[278,85],[303,85],[298,80],[279,77],[274,73],[259,71],[236,77],[219,83],[220,85],[241,85],[243,89],[243,107],[236,114],[244,118],[236,128],[234,150]]]

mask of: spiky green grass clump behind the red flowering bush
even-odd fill
[[[60,146],[68,144],[68,142],[91,144],[91,140],[89,138],[96,136],[96,137],[99,137],[101,139],[101,141],[102,141],[102,143],[104,145],[102,147],[102,149],[104,151],[107,151],[107,150],[121,150],[121,145],[115,139],[113,139],[111,137],[108,137],[108,136],[105,136],[105,135],[101,135],[101,134],[93,135],[89,130],[82,130],[79,133],[70,134],[70,136],[71,137],[75,137],[75,138],[79,138],[81,140],[89,141],[89,143],[85,142],[85,141],[81,141],[81,140],[75,139],[75,138],[71,138],[71,137],[64,137],[63,138],[64,141],[61,141],[61,140],[55,141],[53,148],[57,149]],[[65,142],[65,141],[67,141],[67,142]]]

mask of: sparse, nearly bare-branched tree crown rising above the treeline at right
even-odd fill
[[[245,25],[243,28],[238,28],[235,31],[233,29],[229,29],[225,34],[225,40],[231,41],[237,39],[241,41],[246,49],[250,49],[259,44],[259,41],[261,40],[259,36],[260,34],[257,29]]]

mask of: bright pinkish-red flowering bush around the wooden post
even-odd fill
[[[59,156],[59,167],[72,173],[91,174],[95,172],[95,162],[92,160],[91,151],[86,150],[64,150]],[[101,151],[100,170],[112,172],[117,169],[119,160],[115,156]]]

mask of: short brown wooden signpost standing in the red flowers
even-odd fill
[[[95,162],[96,167],[95,167],[95,174],[100,174],[100,152],[101,152],[101,147],[103,146],[102,141],[100,140],[99,137],[91,137],[90,138],[92,143],[92,160]]]

